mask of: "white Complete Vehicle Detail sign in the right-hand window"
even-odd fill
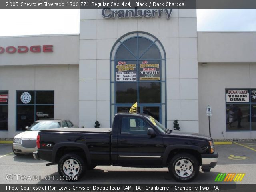
[[[226,90],[226,102],[249,102],[249,91]]]

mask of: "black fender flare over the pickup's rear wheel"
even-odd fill
[[[91,164],[91,159],[90,159],[90,152],[88,150],[88,147],[85,144],[82,143],[70,143],[70,142],[64,142],[64,143],[57,143],[56,145],[54,145],[53,150],[52,150],[52,160],[55,162],[55,158],[56,158],[56,153],[58,151],[59,148],[61,147],[78,147],[81,148],[85,155],[86,155],[86,161],[87,164],[90,165]]]

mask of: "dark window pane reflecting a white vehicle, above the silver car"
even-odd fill
[[[40,119],[54,118],[54,105],[37,105],[36,121]]]

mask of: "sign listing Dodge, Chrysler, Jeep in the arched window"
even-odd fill
[[[142,61],[140,64],[140,80],[160,80],[160,67],[159,63],[148,63]]]

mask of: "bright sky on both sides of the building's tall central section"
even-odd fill
[[[256,31],[256,9],[199,9],[198,31]],[[0,36],[78,34],[78,9],[0,10]]]

